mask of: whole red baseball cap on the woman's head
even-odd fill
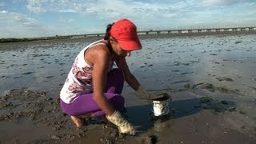
[[[120,19],[114,22],[110,35],[118,40],[118,44],[123,50],[140,50],[142,44],[138,39],[137,28],[128,19]]]

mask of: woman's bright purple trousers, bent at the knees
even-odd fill
[[[122,88],[124,77],[122,70],[110,70],[107,76],[106,93],[104,96],[108,99],[115,110],[124,108],[125,99],[122,97]],[[93,94],[82,94],[72,103],[60,101],[61,108],[64,113],[72,116],[83,115],[93,112],[96,118],[102,118],[106,114],[99,108],[98,104],[93,100]]]

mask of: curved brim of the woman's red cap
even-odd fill
[[[122,47],[122,50],[141,50],[142,49],[142,44],[138,39],[134,41],[118,40],[118,44]]]

